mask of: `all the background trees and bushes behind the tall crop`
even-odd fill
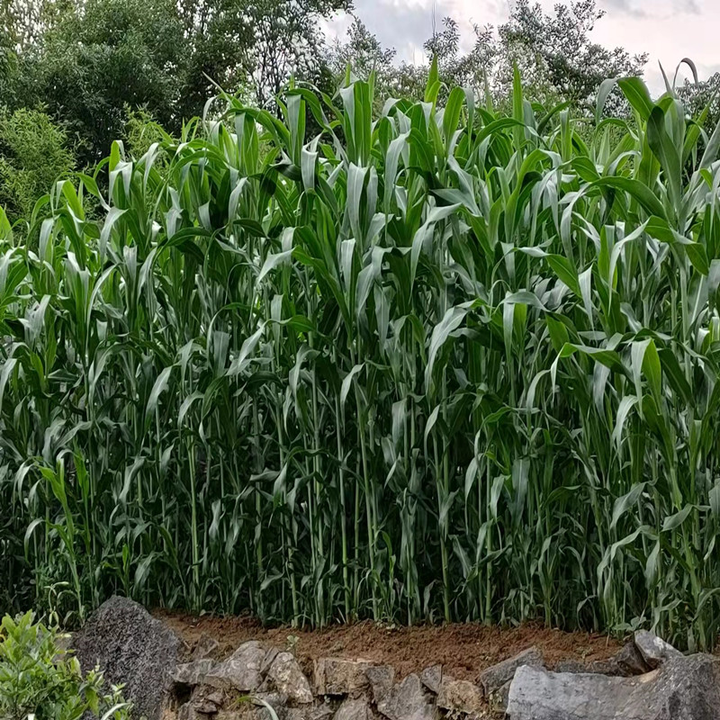
[[[645,62],[590,40],[602,17],[594,0],[559,4],[552,16],[521,0],[497,31],[476,27],[466,54],[457,23],[446,18],[429,33],[424,66],[394,62],[394,50],[383,49],[358,18],[346,39],[328,43],[320,23],[339,11],[353,12],[349,0],[0,0],[8,217],[29,217],[41,179],[94,166],[125,137],[129,113],[177,135],[219,87],[276,113],[275,95],[293,73],[332,95],[352,61],[358,76],[375,69],[380,110],[388,97],[421,99],[429,58],[437,56],[448,86],[484,92],[488,85],[504,102],[515,61],[528,97],[587,110],[603,79],[637,75]],[[25,141],[17,148],[21,127]]]

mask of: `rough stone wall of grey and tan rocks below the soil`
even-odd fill
[[[399,678],[362,658],[302,668],[293,653],[257,641],[221,658],[210,637],[191,649],[173,635],[135,603],[112,599],[75,644],[84,670],[104,659],[108,679],[126,685],[138,720],[720,720],[717,659],[686,657],[646,632],[608,661],[554,671],[528,648],[476,682],[440,665]]]

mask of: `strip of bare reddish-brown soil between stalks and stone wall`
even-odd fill
[[[191,646],[202,635],[210,635],[220,643],[223,654],[229,654],[246,640],[260,640],[292,647],[306,671],[311,670],[313,660],[339,656],[392,665],[401,678],[440,663],[458,680],[477,680],[485,668],[532,645],[545,653],[550,666],[567,659],[605,660],[619,648],[617,641],[606,635],[563,633],[532,624],[501,629],[474,623],[396,627],[363,622],[299,630],[266,628],[248,617],[193,617],[164,610],[157,610],[155,615]]]

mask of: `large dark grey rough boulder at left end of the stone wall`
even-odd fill
[[[180,639],[138,603],[113,597],[73,637],[84,672],[99,665],[108,684],[123,684],[134,715],[159,720],[175,670]]]

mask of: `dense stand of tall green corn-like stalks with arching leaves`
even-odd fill
[[[0,220],[14,597],[711,644],[720,132],[612,85],[220,98]]]

